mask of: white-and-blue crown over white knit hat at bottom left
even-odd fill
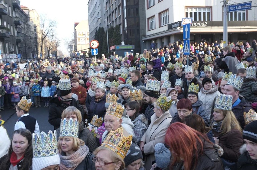
[[[49,130],[47,135],[45,132],[33,133],[32,146],[34,158],[58,155],[56,131]]]

